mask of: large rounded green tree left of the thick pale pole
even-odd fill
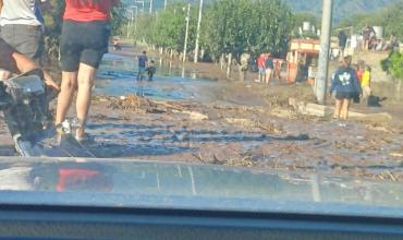
[[[220,0],[204,24],[203,40],[215,55],[288,50],[293,14],[280,0]]]

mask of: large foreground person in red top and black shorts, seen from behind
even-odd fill
[[[108,52],[110,12],[120,0],[65,0],[60,43],[62,84],[58,97],[56,124],[65,121],[77,89],[77,141],[85,140],[85,123],[90,106],[95,72]]]

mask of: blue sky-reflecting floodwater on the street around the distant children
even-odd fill
[[[136,81],[137,60],[135,58],[108,53],[98,71],[95,86],[97,95],[125,96],[135,94],[157,100],[197,100],[212,103],[213,93],[223,87],[217,81],[198,79],[194,71],[173,65],[161,59],[156,61],[157,73],[152,82]]]

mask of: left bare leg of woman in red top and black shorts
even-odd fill
[[[61,92],[58,97],[56,124],[62,123],[65,120],[76,87],[77,72],[63,72]]]

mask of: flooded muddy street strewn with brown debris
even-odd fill
[[[208,79],[157,62],[154,81],[135,81],[133,57],[108,55],[98,72],[87,146],[101,158],[187,161],[329,172],[403,181],[402,119],[349,122],[298,113],[290,98],[315,101],[309,85],[270,87]],[[190,68],[187,68],[190,69]],[[203,68],[206,70],[206,68]],[[217,74],[220,75],[219,73]],[[363,109],[365,113],[384,109]],[[70,112],[74,116],[74,110]],[[1,155],[12,141],[1,124]]]

